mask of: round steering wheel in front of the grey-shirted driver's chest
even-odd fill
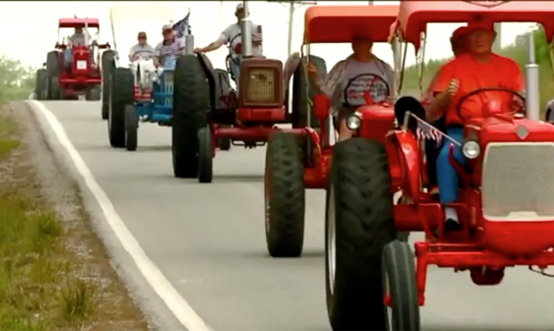
[[[344,89],[344,100],[348,106],[361,106],[367,104],[366,97],[369,95],[372,102],[383,102],[390,94],[384,78],[375,74],[357,75],[350,79]]]

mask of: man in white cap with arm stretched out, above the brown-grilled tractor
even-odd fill
[[[242,57],[242,39],[241,39],[241,29],[240,21],[246,17],[244,12],[244,6],[242,3],[237,5],[235,10],[235,17],[237,17],[237,22],[226,27],[225,30],[221,33],[220,37],[216,41],[209,44],[206,47],[195,48],[195,53],[207,53],[213,50],[219,49],[221,46],[229,44],[229,57],[226,61],[229,64],[229,70],[231,70],[231,78],[239,86],[239,75],[240,75],[240,59]],[[259,26],[256,23],[251,23],[252,30],[252,55],[261,56],[263,53],[262,49],[262,26]]]

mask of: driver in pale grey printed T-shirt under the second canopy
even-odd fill
[[[335,64],[323,80],[319,79],[316,66],[307,65],[310,84],[316,93],[329,98],[330,114],[339,126],[339,141],[352,138],[346,118],[358,106],[366,104],[364,94],[368,93],[374,103],[393,101],[393,68],[376,57],[371,52],[372,47],[373,41],[368,37],[353,37],[352,55]]]

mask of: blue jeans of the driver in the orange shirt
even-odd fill
[[[446,134],[458,142],[463,142],[462,128],[447,128]],[[441,205],[458,200],[458,173],[452,167],[448,160],[450,145],[452,142],[443,140],[443,145],[440,146],[437,157],[437,182],[438,182],[438,198]],[[465,157],[462,153],[462,147],[454,145],[454,160],[458,161],[462,166],[465,164]]]

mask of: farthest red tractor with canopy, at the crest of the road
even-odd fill
[[[65,38],[60,43],[62,28],[82,29],[84,43],[73,45]],[[77,17],[58,21],[58,41],[55,50],[46,57],[46,91],[48,100],[71,100],[84,95],[86,100],[100,100],[100,59],[99,50],[109,48],[109,44],[98,44],[90,40],[89,28],[100,30],[98,19]]]

